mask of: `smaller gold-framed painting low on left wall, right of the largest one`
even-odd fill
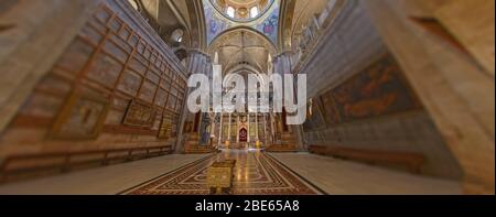
[[[157,110],[149,105],[131,100],[123,120],[123,124],[151,128],[155,122]]]

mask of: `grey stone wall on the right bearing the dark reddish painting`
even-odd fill
[[[348,1],[322,34],[301,72],[317,105],[304,127],[306,145],[420,153],[425,174],[460,180],[456,160],[359,3]]]

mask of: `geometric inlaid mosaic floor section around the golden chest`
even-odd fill
[[[207,169],[216,161],[236,160],[234,195],[315,195],[319,189],[262,152],[225,151],[153,178],[128,195],[208,195]]]

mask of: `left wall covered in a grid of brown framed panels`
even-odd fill
[[[0,134],[1,159],[175,144],[185,69],[126,1],[85,2],[97,7]]]

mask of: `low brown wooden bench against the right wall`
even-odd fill
[[[336,159],[359,161],[369,164],[388,164],[407,167],[410,172],[420,174],[425,163],[422,154],[409,152],[377,151],[344,147],[311,145],[310,152]]]

